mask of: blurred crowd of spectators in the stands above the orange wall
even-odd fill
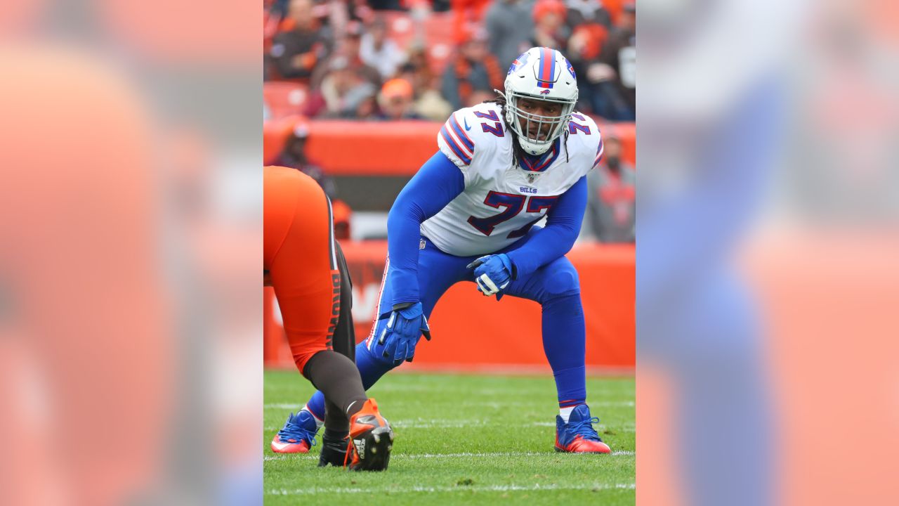
[[[579,111],[633,122],[635,11],[628,0],[265,0],[264,78],[301,90],[294,105],[309,118],[442,122],[546,46],[571,60]]]

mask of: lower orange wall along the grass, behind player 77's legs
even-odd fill
[[[353,280],[356,339],[368,337],[384,273],[387,243],[342,243]],[[587,323],[586,363],[592,372],[631,372],[635,366],[634,247],[578,245],[567,257],[581,278]],[[264,289],[265,366],[293,367],[271,288]],[[486,299],[475,285],[452,286],[434,308],[433,339],[422,341],[404,368],[532,371],[548,369],[543,355],[539,304]]]

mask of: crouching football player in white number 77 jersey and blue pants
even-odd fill
[[[609,453],[586,404],[585,329],[577,271],[565,253],[580,231],[586,175],[600,162],[596,123],[574,113],[574,68],[557,50],[531,48],[512,63],[505,93],[460,109],[437,136],[440,150],[387,217],[387,266],[377,320],[356,348],[368,389],[411,362],[427,317],[451,285],[542,306],[543,348],[556,379],[556,451]],[[546,218],[546,226],[536,223]],[[313,395],[300,421],[314,434]]]

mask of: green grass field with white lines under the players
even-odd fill
[[[308,455],[271,452],[271,438],[312,386],[293,371],[266,371],[265,502],[634,504],[634,379],[588,378],[587,392],[611,455],[553,450],[551,375],[386,375],[369,396],[396,432],[390,467],[349,473],[316,467],[317,446]]]

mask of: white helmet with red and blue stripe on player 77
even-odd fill
[[[522,97],[559,103],[562,112],[558,116],[525,113],[519,107]],[[557,50],[530,48],[509,68],[505,80],[505,99],[505,120],[518,134],[521,148],[531,155],[541,155],[568,128],[574,104],[577,103],[574,68]],[[529,131],[544,131],[546,124],[549,125],[548,134],[542,132],[544,135],[528,137]],[[544,138],[541,140],[539,137]]]

